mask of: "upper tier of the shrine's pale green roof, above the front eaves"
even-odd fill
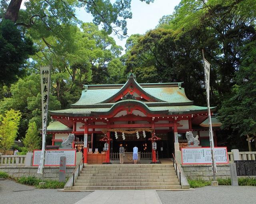
[[[138,84],[134,78],[134,75],[130,74],[129,79],[125,84],[102,84],[85,86],[86,90],[82,91],[82,95],[78,102],[72,104],[71,107],[106,107],[103,104],[111,101],[111,99],[114,98],[114,96],[116,96],[118,92],[122,92],[122,90],[129,87],[130,84],[137,87],[149,98],[152,98],[153,101],[155,101],[151,103],[168,102],[174,104],[193,104],[193,102],[186,97],[184,88],[181,88],[181,83],[182,82]]]

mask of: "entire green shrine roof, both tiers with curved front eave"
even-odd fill
[[[138,90],[140,95],[148,98],[143,100],[120,100],[116,97],[123,96],[124,90]],[[138,97],[138,95],[137,95]],[[115,99],[115,100],[114,100]],[[126,84],[88,85],[82,91],[78,102],[71,105],[70,109],[50,111],[56,116],[98,116],[111,114],[118,106],[141,106],[148,113],[160,115],[177,115],[207,112],[207,107],[194,106],[193,101],[186,97],[181,82],[138,84],[133,74],[130,74]],[[212,111],[215,108],[211,108]]]

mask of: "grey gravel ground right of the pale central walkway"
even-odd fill
[[[255,204],[256,186],[205,186],[187,191],[157,191],[162,204]]]

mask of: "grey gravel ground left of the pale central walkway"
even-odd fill
[[[90,193],[38,189],[8,179],[0,180],[0,204],[74,204]]]

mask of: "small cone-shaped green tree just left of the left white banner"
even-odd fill
[[[22,140],[28,152],[33,152],[33,150],[38,150],[41,147],[41,136],[39,134],[38,128],[35,122],[30,122],[28,124],[28,130],[26,131],[26,136]]]

